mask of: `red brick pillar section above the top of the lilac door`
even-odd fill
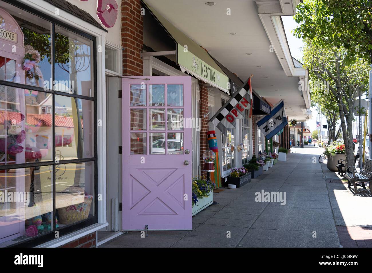
[[[123,75],[142,76],[143,16],[140,0],[121,1]]]

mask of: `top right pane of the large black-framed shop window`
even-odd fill
[[[93,41],[55,26],[54,90],[93,97]]]

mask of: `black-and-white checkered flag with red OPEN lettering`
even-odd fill
[[[244,82],[240,89],[235,92],[227,103],[225,103],[209,120],[209,122],[212,122],[225,136],[227,136],[227,129],[236,128],[236,119],[246,118],[246,110],[250,110],[250,113],[252,111],[253,97],[251,90],[248,92],[243,88],[248,81],[250,82],[251,77],[253,77],[253,75]]]

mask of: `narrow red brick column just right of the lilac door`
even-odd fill
[[[200,130],[200,167],[201,167],[201,176],[206,176],[206,172],[203,172],[203,152],[209,149],[208,140],[207,140],[207,131],[208,131],[208,120],[209,116],[204,118],[204,114],[208,113],[208,88],[205,86],[204,82],[199,81],[199,115],[202,119],[202,126]],[[222,152],[222,151],[221,151]]]

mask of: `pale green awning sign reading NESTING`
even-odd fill
[[[207,82],[212,82],[224,90],[228,89],[229,78],[226,75],[208,65],[192,52],[184,50],[180,44],[178,44],[178,63]]]

